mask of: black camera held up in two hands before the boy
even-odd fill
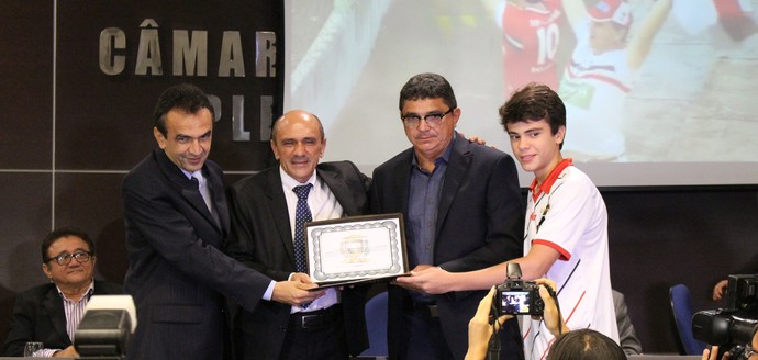
[[[520,278],[521,267],[517,263],[509,263],[508,280],[495,288],[500,314],[542,316],[545,303],[539,297],[539,284]]]

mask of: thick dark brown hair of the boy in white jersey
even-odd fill
[[[514,91],[511,99],[500,106],[500,123],[508,132],[508,124],[545,121],[555,135],[560,126],[566,127],[566,105],[548,86],[530,82]],[[561,147],[564,144],[560,144]]]

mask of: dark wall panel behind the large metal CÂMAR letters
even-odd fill
[[[62,169],[126,170],[155,147],[153,108],[160,92],[178,82],[192,82],[221,100],[221,119],[213,135],[211,159],[226,170],[250,171],[268,166],[270,148],[260,140],[260,95],[278,99],[280,77],[256,76],[256,32],[283,35],[278,2],[269,1],[88,1],[58,2],[56,157]],[[157,27],[156,27],[157,26]],[[100,33],[120,29],[125,47],[115,48],[125,67],[107,75],[99,66]],[[136,71],[143,31],[156,30],[163,74]],[[174,31],[204,31],[208,72],[174,75]],[[220,74],[225,33],[241,40],[244,76]],[[280,52],[283,52],[283,47]],[[281,75],[281,74],[279,74]],[[244,97],[245,130],[250,140],[232,135],[233,97]],[[281,106],[280,103],[276,104]],[[274,111],[276,113],[276,111]],[[239,121],[238,119],[236,121]],[[82,142],[86,139],[86,142]],[[88,149],[82,150],[82,146]]]

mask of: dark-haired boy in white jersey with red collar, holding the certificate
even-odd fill
[[[607,213],[592,181],[564,159],[566,108],[547,86],[530,83],[500,108],[500,117],[522,168],[534,172],[526,206],[522,279],[556,282],[569,329],[592,328],[618,342],[607,250]],[[414,271],[413,282],[430,293],[488,289],[506,279],[506,263],[470,272],[438,267]],[[542,319],[522,319],[526,359],[544,359],[554,336]]]

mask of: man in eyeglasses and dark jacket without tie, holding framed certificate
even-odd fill
[[[487,268],[522,254],[523,205],[515,162],[459,138],[450,85],[439,75],[412,77],[400,92],[400,117],[413,144],[374,171],[371,210],[402,212],[411,268],[452,272]],[[392,359],[462,359],[468,322],[487,292],[428,295],[390,286],[388,347]],[[501,358],[523,358],[515,322],[499,333]]]

